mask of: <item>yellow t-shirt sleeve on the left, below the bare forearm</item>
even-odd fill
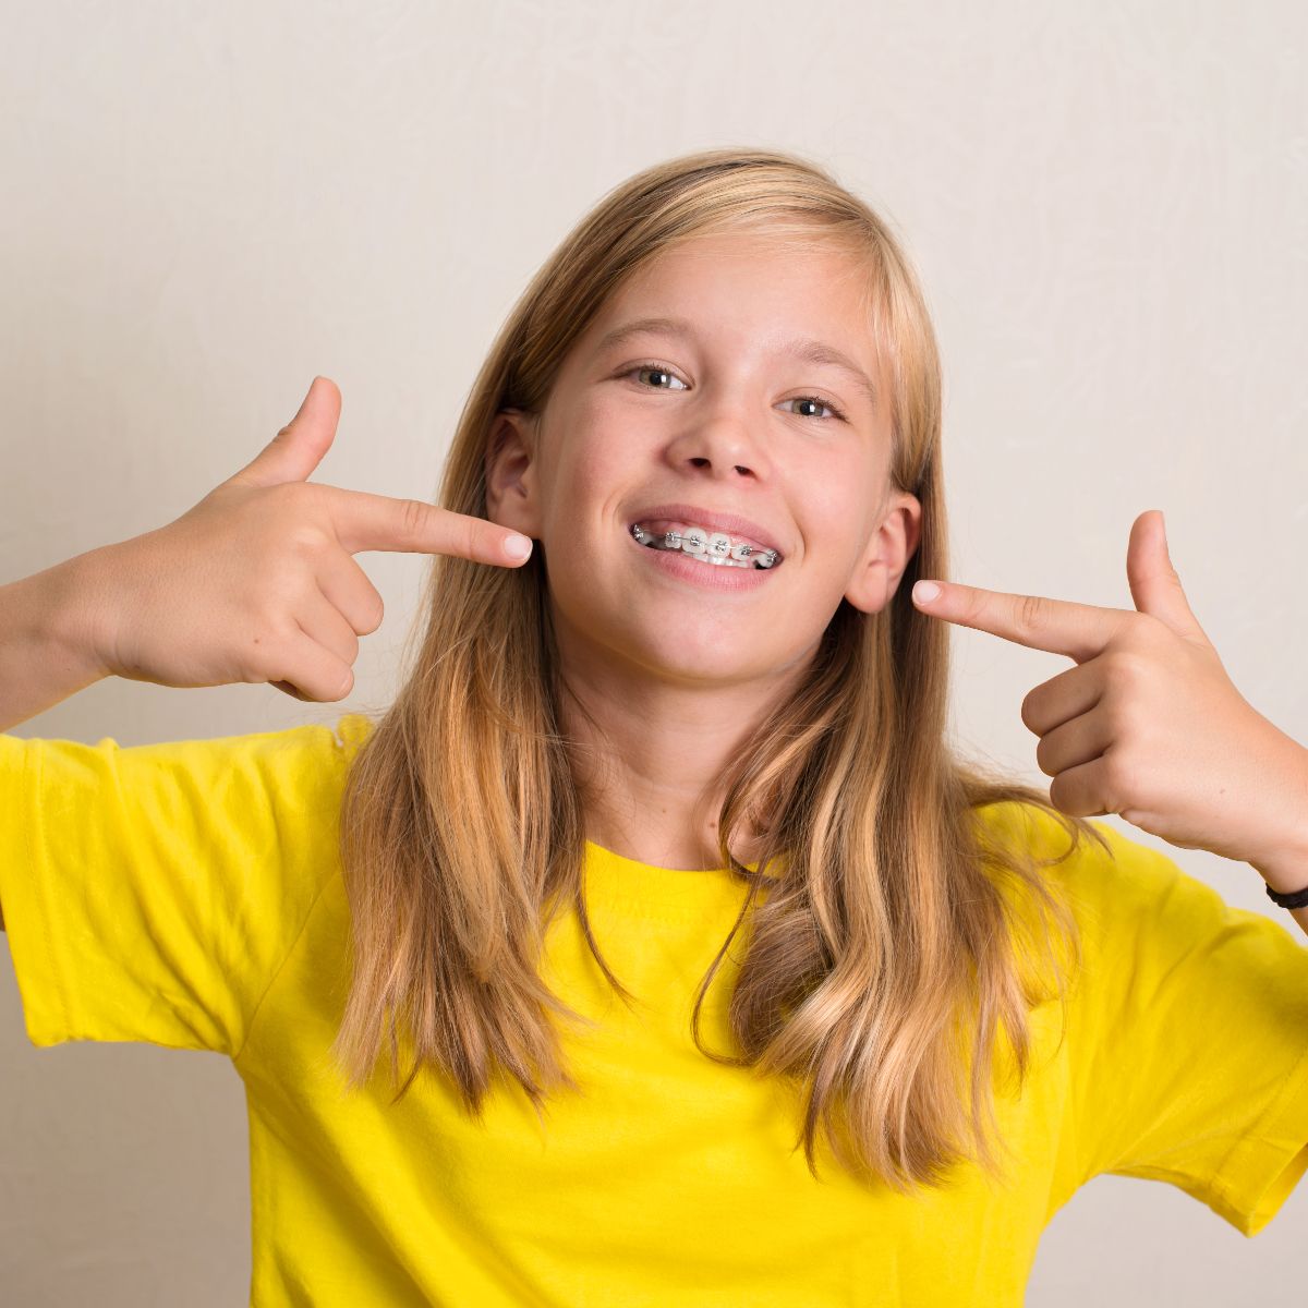
[[[339,870],[344,755],[327,726],[128,748],[0,735],[0,912],[31,1042],[234,1058]]]

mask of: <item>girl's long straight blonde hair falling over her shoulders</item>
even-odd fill
[[[799,1134],[815,1176],[819,1127],[850,1172],[900,1190],[943,1184],[972,1156],[969,1142],[994,1172],[995,1037],[1007,1035],[1020,1086],[1028,1006],[1065,1001],[1049,922],[1071,968],[1080,947],[1075,918],[1039,872],[1058,859],[993,838],[978,810],[1045,810],[1070,836],[1059,857],[1082,832],[1108,844],[1040,790],[964,764],[946,743],[947,627],[910,600],[917,577],[948,576],[940,368],[917,276],[887,225],[787,153],[705,150],[629,178],[578,222],[509,314],[460,415],[438,502],[485,517],[496,415],[539,415],[570,345],[625,279],[729,228],[825,242],[866,268],[869,330],[889,377],[891,475],[917,496],[922,519],[891,603],[865,613],[841,600],[811,675],[731,769],[721,866],[749,892],[701,982],[695,1041],[705,1057],[807,1091]],[[387,1040],[398,1080],[403,1035],[413,1062],[396,1100],[430,1067],[477,1117],[500,1075],[539,1113],[551,1090],[577,1088],[552,1019],[585,1020],[540,977],[555,913],[576,910],[608,982],[632,998],[586,913],[583,807],[560,729],[540,551],[519,569],[434,557],[421,613],[403,688],[345,783],[353,977],[334,1054],[360,1088]],[[761,820],[752,870],[732,853],[746,818]],[[1008,889],[1029,891],[1044,916],[1028,920]],[[701,1006],[747,917],[729,1010],[740,1053],[714,1053],[701,1040]],[[1053,964],[1044,986],[1024,972],[1037,950]]]

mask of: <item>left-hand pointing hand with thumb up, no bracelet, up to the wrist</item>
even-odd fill
[[[518,534],[420,500],[309,483],[332,443],[340,391],[315,377],[300,412],[175,522],[78,560],[97,659],[157,685],[268,681],[341,700],[358,637],[382,623],[362,549],[458,555],[514,568]]]

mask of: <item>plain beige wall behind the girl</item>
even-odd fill
[[[1266,3],[658,8],[0,3],[0,568],[162,526],[249,462],[315,373],[314,480],[432,497],[510,302],[645,165],[776,145],[905,239],[946,365],[955,579],[1130,607],[1162,508],[1235,683],[1308,743],[1308,9]],[[424,572],[356,691],[102,681],[14,729],[123,744],[387,701]],[[1070,666],[956,630],[960,744],[1037,783],[1019,706]],[[1164,849],[1294,930],[1243,863]],[[26,1040],[0,947],[7,1303],[249,1294],[245,1101],[217,1056]],[[1301,1304],[1308,1186],[1256,1240],[1171,1186],[1100,1177],[1028,1303]],[[947,1257],[947,1232],[942,1232]]]

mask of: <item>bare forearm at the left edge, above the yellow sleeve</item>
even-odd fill
[[[88,557],[0,586],[0,731],[109,675],[90,637]]]

